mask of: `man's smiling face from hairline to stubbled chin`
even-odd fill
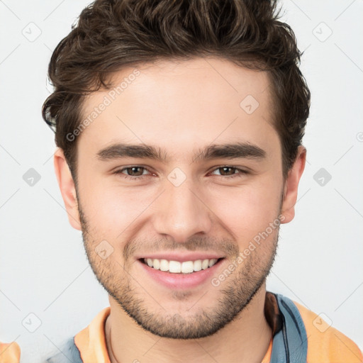
[[[69,220],[79,229],[79,218],[97,279],[138,325],[205,337],[263,286],[303,167],[290,190],[266,73],[215,58],[137,69],[115,74],[116,86],[126,79],[118,94],[84,103],[82,119],[99,111],[77,138]]]

